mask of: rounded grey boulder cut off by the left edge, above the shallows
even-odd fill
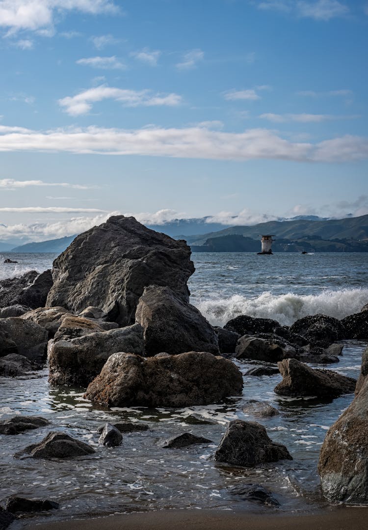
[[[46,330],[35,322],[25,321],[19,316],[0,320],[0,356],[16,353],[40,362],[46,358],[47,341]]]

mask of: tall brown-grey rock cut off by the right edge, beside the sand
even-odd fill
[[[368,378],[323,441],[318,472],[333,502],[368,504]]]

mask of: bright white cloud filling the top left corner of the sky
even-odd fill
[[[8,34],[52,28],[56,13],[116,13],[113,0],[0,0],[0,27]]]

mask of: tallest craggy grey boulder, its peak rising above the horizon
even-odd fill
[[[80,234],[54,261],[47,305],[75,312],[104,310],[120,325],[135,321],[144,287],[168,286],[189,302],[186,282],[194,272],[185,241],[155,232],[134,217],[110,217]]]

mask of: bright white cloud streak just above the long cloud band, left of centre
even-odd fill
[[[75,96],[67,96],[58,101],[59,105],[65,109],[65,112],[71,116],[80,116],[89,112],[92,104],[97,101],[113,99],[129,107],[153,107],[156,105],[166,105],[175,107],[182,101],[178,94],[152,94],[150,90],[126,90],[116,89],[109,86],[96,86],[92,89],[85,90]]]

